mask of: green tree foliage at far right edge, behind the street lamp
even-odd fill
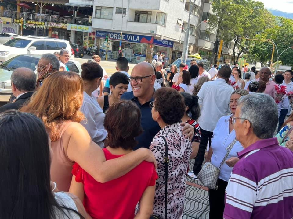
[[[257,35],[258,39],[272,39],[279,50],[279,54],[293,46],[293,20],[277,17],[278,23]],[[266,62],[271,59],[273,46],[266,42],[255,42],[251,47],[251,54],[259,58],[261,62]],[[284,65],[293,66],[293,49],[286,50],[279,58]],[[277,61],[277,50],[274,52],[273,62]]]

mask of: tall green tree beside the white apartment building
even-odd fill
[[[264,9],[262,2],[215,0],[212,5],[214,15],[209,18],[207,31],[217,29],[217,39],[235,42],[232,60],[234,64],[251,45],[250,41],[242,38],[253,38],[275,23],[274,16]]]

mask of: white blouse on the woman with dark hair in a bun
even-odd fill
[[[81,112],[85,115],[86,119],[86,121],[81,121],[81,125],[88,131],[92,141],[103,148],[103,141],[108,135],[103,124],[105,114],[93,95],[90,97],[86,92],[83,92]]]

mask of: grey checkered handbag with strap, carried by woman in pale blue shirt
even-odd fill
[[[209,189],[218,189],[217,182],[219,179],[221,166],[224,164],[236,141],[237,140],[235,138],[226,148],[227,153],[219,167],[215,167],[210,161],[205,162],[204,166],[201,168],[201,171],[197,174],[197,179],[199,179],[202,184],[204,184],[204,186],[208,187]]]

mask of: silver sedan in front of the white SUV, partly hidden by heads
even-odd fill
[[[36,65],[41,56],[29,54],[18,55],[0,65],[0,105],[3,105],[1,102],[8,102],[12,95],[10,81],[12,71],[19,67],[25,67],[36,72]],[[69,68],[69,71],[81,75],[81,64],[78,61],[69,59],[65,65]]]

